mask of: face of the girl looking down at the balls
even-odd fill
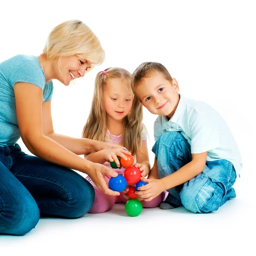
[[[122,120],[131,111],[133,92],[131,85],[126,89],[124,79],[108,79],[103,90],[103,99],[108,118]]]

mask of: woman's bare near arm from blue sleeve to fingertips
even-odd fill
[[[96,186],[109,195],[119,195],[108,188],[104,175],[117,176],[106,166],[92,163],[77,156],[43,134],[43,91],[34,84],[17,82],[14,86],[17,122],[26,147],[38,157],[61,166],[88,174]]]

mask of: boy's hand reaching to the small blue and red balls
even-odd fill
[[[164,191],[162,180],[143,179],[143,181],[147,185],[138,187],[139,191],[136,191],[135,194],[143,198],[144,201],[151,201]]]

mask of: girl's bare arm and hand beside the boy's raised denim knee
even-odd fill
[[[141,150],[136,154],[137,163],[134,165],[142,171],[141,176],[145,177],[150,172],[147,140],[142,141]]]

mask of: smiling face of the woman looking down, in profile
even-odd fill
[[[57,79],[64,85],[69,85],[70,81],[84,76],[86,70],[89,70],[91,64],[83,58],[76,55],[63,57],[60,62],[60,70],[56,70]]]

